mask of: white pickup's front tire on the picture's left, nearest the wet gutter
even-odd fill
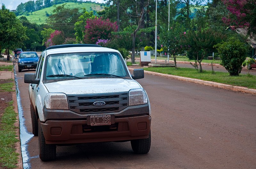
[[[38,119],[38,145],[39,145],[39,158],[42,161],[51,161],[56,158],[56,145],[46,144],[44,133]]]

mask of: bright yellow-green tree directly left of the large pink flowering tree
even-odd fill
[[[75,36],[76,36],[76,41],[78,43],[82,42],[84,39],[84,27],[86,26],[86,21],[87,19],[93,19],[95,18],[95,16],[93,15],[93,12],[90,11],[86,11],[86,9],[84,8],[84,12],[83,15],[81,15],[77,22],[75,23]]]

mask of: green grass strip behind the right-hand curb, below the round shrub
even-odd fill
[[[214,81],[224,84],[229,84],[232,86],[242,86],[247,88],[256,89],[256,76],[251,74],[240,74],[239,76],[229,76],[228,73],[204,71],[203,73],[198,73],[192,68],[172,68],[172,67],[148,67],[144,70],[158,72],[163,74],[172,74],[176,76],[190,77],[194,79],[201,79],[205,81]]]

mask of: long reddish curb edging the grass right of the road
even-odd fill
[[[129,70],[133,70],[134,68],[129,68]],[[232,86],[232,85],[227,85],[223,83],[218,83],[218,82],[212,82],[212,81],[203,81],[200,79],[193,79],[193,78],[188,78],[188,77],[182,77],[182,76],[175,76],[171,74],[162,74],[162,73],[157,73],[157,72],[150,72],[150,71],[145,71],[146,74],[151,74],[151,75],[157,75],[157,76],[162,76],[170,79],[177,79],[180,81],[188,81],[188,82],[193,82],[197,84],[202,84],[206,86],[213,86],[216,88],[223,88],[223,89],[228,89],[232,91],[237,91],[237,92],[244,92],[244,93],[250,93],[256,95],[256,89],[250,89],[250,88],[245,88],[245,87],[240,87],[240,86]]]

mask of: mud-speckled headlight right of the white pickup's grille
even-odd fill
[[[147,94],[144,89],[136,88],[129,91],[129,106],[146,104],[148,102]]]

